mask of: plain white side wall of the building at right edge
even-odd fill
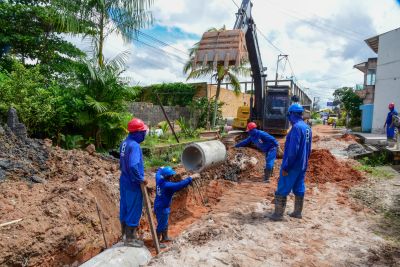
[[[400,29],[379,36],[373,132],[382,132],[388,104],[400,107]]]

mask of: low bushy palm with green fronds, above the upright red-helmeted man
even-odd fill
[[[137,91],[128,86],[128,80],[121,77],[127,53],[98,65],[97,58],[84,60],[78,73],[84,99],[78,124],[89,129],[96,147],[113,147],[126,134],[126,124],[132,117],[127,112],[127,102]]]

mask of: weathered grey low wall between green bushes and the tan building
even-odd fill
[[[190,111],[186,107],[164,107],[168,118],[172,121],[184,117],[190,119]],[[159,105],[153,105],[152,103],[145,102],[133,102],[128,107],[135,117],[143,120],[146,124],[154,126],[159,122],[165,121],[164,114]]]

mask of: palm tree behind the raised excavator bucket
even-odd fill
[[[208,32],[213,31],[222,31],[225,30],[225,26],[221,29],[211,28]],[[221,92],[221,83],[226,81],[232,85],[233,92],[236,95],[240,94],[240,82],[238,76],[246,76],[250,74],[250,69],[247,66],[247,63],[244,62],[239,66],[228,66],[225,68],[223,64],[218,64],[217,68],[215,69],[212,63],[196,66],[193,68],[193,60],[196,55],[196,52],[199,48],[199,42],[196,43],[191,49],[189,49],[189,60],[185,63],[183,67],[183,72],[187,74],[187,80],[189,79],[197,79],[200,77],[209,77],[215,79],[217,83],[217,91],[215,93],[215,102],[214,102],[214,110],[213,110],[213,117],[212,117],[212,127],[215,127],[216,119],[217,119],[217,112],[218,112],[218,100],[219,95]]]

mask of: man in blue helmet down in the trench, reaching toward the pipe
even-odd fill
[[[154,200],[154,213],[157,217],[157,236],[161,242],[168,242],[168,219],[171,213],[172,196],[175,192],[182,190],[192,183],[188,177],[179,182],[172,182],[171,179],[176,172],[169,166],[162,167],[156,173],[156,199]],[[165,248],[164,244],[160,244]]]

